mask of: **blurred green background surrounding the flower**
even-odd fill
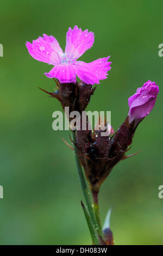
[[[136,130],[131,153],[112,170],[99,193],[102,222],[113,207],[116,245],[162,243],[162,1],[1,1],[1,172],[0,243],[2,245],[89,245],[91,238],[80,200],[69,131],[52,130],[60,103],[37,87],[53,91],[43,73],[51,67],[30,57],[25,42],[42,33],[62,48],[68,27],[95,33],[95,44],[80,60],[111,54],[108,79],[98,85],[89,110],[111,111],[114,129],[126,118],[128,97],[147,80],[160,93],[151,114]]]

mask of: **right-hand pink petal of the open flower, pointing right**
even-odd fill
[[[107,72],[111,69],[109,57],[96,59],[93,62],[75,62],[77,76],[87,84],[99,83],[99,80],[107,78]]]

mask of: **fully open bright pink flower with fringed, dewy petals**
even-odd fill
[[[58,41],[52,36],[43,34],[38,39],[26,43],[29,54],[40,62],[54,67],[45,75],[49,78],[58,78],[60,83],[76,83],[76,76],[87,84],[99,83],[107,78],[111,69],[109,57],[97,59],[91,63],[77,61],[83,53],[92,47],[94,34],[87,29],[82,31],[78,26],[69,28],[66,35],[65,52],[62,51]]]

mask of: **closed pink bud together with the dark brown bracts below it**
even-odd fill
[[[92,192],[98,193],[102,182],[118,161],[126,158],[125,153],[132,142],[137,125],[148,115],[159,93],[155,82],[148,81],[129,97],[129,113],[112,136],[101,136],[101,130],[77,131],[78,154]],[[83,157],[85,156],[85,157]]]

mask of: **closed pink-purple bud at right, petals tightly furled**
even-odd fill
[[[135,119],[135,124],[139,123],[148,115],[154,107],[156,96],[159,93],[159,87],[155,82],[150,80],[143,84],[136,93],[129,97],[129,123]]]

